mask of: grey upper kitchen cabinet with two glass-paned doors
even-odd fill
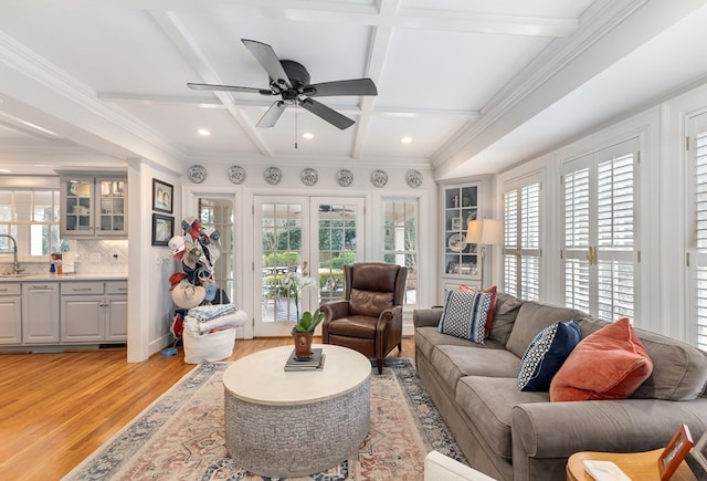
[[[63,172],[62,238],[127,237],[127,177]]]

